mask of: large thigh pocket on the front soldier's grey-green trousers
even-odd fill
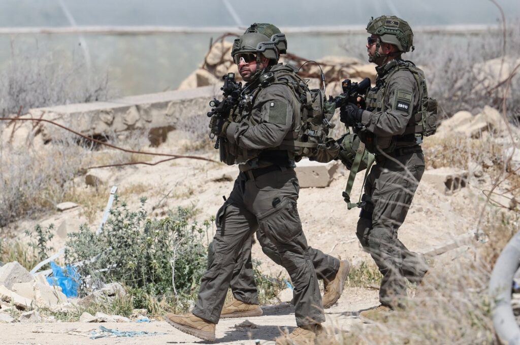
[[[285,198],[273,208],[256,216],[258,226],[277,242],[288,243],[302,233],[296,202]]]

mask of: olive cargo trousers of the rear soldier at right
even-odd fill
[[[422,152],[378,155],[365,184],[366,204],[356,235],[383,274],[379,299],[387,307],[400,306],[401,298],[406,297],[405,278],[418,283],[428,270],[424,257],[397,238],[423,172]]]

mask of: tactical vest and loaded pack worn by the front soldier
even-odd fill
[[[288,66],[277,65],[269,74],[262,75],[259,85],[243,101],[242,107],[236,107],[230,114],[231,122],[246,122],[250,126],[258,125],[251,117],[256,97],[264,88],[282,84],[287,86],[293,95],[294,104],[300,105],[296,117],[293,119],[291,130],[283,139],[280,146],[264,150],[249,150],[238,145],[226,142],[224,145],[225,162],[228,165],[243,163],[259,158],[262,161],[281,164],[285,160],[298,162],[303,156],[318,162],[332,161],[340,151],[339,144],[328,138],[330,123],[334,115],[335,105],[326,101],[323,91],[310,90],[300,76]],[[299,115],[299,116],[298,116]],[[283,156],[283,157],[280,157]]]

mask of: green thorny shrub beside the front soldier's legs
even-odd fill
[[[150,295],[189,295],[206,267],[202,238],[207,231],[188,223],[192,210],[178,208],[162,219],[149,219],[144,209],[132,211],[115,198],[110,218],[96,234],[86,225],[67,241],[66,262],[83,262],[82,295],[90,287],[119,282]],[[205,236],[205,235],[204,235]]]

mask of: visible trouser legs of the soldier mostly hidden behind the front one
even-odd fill
[[[275,263],[282,265],[282,259],[280,254],[278,254],[275,244],[269,240],[269,237],[263,230],[258,229],[256,231],[256,239],[262,246],[264,254]],[[252,244],[252,238],[250,242]],[[313,247],[309,247],[308,251],[318,279],[326,281],[332,280],[332,277],[335,276],[337,270],[340,268],[340,260],[324,254],[321,250]],[[208,246],[207,253],[207,264],[209,268],[214,257],[213,242]],[[239,301],[249,304],[258,304],[258,290],[256,288],[253,263],[251,260],[251,245],[244,245],[233,268],[230,287],[233,296]]]

